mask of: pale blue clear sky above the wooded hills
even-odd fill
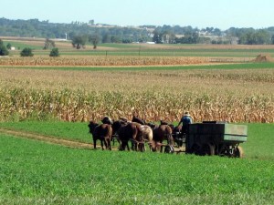
[[[0,18],[79,21],[117,26],[266,28],[274,26],[273,0],[6,0]]]

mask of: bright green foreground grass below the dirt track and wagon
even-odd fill
[[[68,149],[1,134],[1,204],[271,204],[272,159]]]

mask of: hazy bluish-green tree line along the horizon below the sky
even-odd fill
[[[155,42],[156,44],[274,44],[274,26],[255,29],[230,27],[222,31],[216,27],[199,29],[192,26],[110,26],[71,22],[49,23],[38,19],[10,20],[0,18],[0,36],[67,38],[76,48],[89,41],[98,43]]]

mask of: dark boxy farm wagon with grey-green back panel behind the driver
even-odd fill
[[[247,125],[222,121],[190,124],[185,136],[185,153],[241,158],[243,150],[238,145],[246,142],[247,138]]]

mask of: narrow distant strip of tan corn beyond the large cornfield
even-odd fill
[[[0,66],[86,67],[86,66],[166,66],[208,63],[207,57],[173,56],[35,56],[0,58]]]

